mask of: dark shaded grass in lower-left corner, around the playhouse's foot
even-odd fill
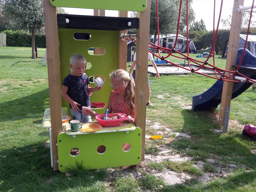
[[[106,191],[107,171],[74,169],[69,176],[53,171],[50,149],[33,143],[0,151],[0,191]],[[73,188],[73,189],[72,189]],[[90,189],[90,190],[89,190]],[[98,190],[97,190],[98,189]]]

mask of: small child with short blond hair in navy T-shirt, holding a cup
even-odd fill
[[[73,120],[82,120],[82,106],[90,108],[91,102],[88,93],[99,91],[101,87],[89,87],[88,76],[84,73],[86,59],[80,54],[70,57],[71,73],[62,83],[61,95],[69,102]],[[83,123],[91,122],[91,116],[84,115]]]

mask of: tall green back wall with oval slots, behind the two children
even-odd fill
[[[73,34],[76,32],[90,33],[90,40],[76,40]],[[75,54],[82,54],[88,62],[92,64],[90,69],[84,72],[90,76],[104,76],[104,86],[100,91],[92,92],[90,96],[92,102],[104,102],[103,109],[93,109],[98,113],[105,113],[108,105],[110,92],[113,90],[110,86],[109,73],[118,68],[118,41],[120,39],[119,31],[108,30],[87,30],[87,29],[59,29],[60,44],[60,70],[61,82],[70,73],[70,57]],[[91,47],[100,47],[105,49],[104,55],[90,55],[88,49]],[[89,84],[95,87],[94,83]],[[69,103],[62,98],[62,106],[69,108]],[[68,110],[69,116],[70,110]]]

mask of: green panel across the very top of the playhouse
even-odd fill
[[[139,12],[144,11],[147,7],[146,0],[50,0],[50,2],[55,7],[107,9]]]

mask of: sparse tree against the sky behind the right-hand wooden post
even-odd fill
[[[254,15],[252,14],[252,18],[253,17],[254,17]],[[250,19],[250,13],[243,12],[241,28],[247,28],[248,27],[249,19]],[[230,29],[231,15],[229,15],[227,19],[221,19],[221,23],[222,23],[224,29]],[[256,25],[256,22],[251,19],[250,28],[255,27],[255,25]]]

